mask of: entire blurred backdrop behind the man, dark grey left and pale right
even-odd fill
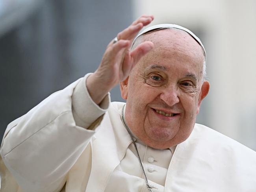
[[[93,72],[117,33],[142,14],[192,30],[211,90],[197,122],[256,150],[253,0],[0,0],[0,136],[15,118]],[[112,101],[123,101],[119,87]]]

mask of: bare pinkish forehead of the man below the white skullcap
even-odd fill
[[[193,73],[197,79],[204,77],[204,51],[200,44],[189,33],[176,28],[161,28],[140,35],[137,45],[151,41],[154,48],[136,65],[134,72],[145,70],[150,65],[158,65],[167,69],[177,68],[180,74]]]

